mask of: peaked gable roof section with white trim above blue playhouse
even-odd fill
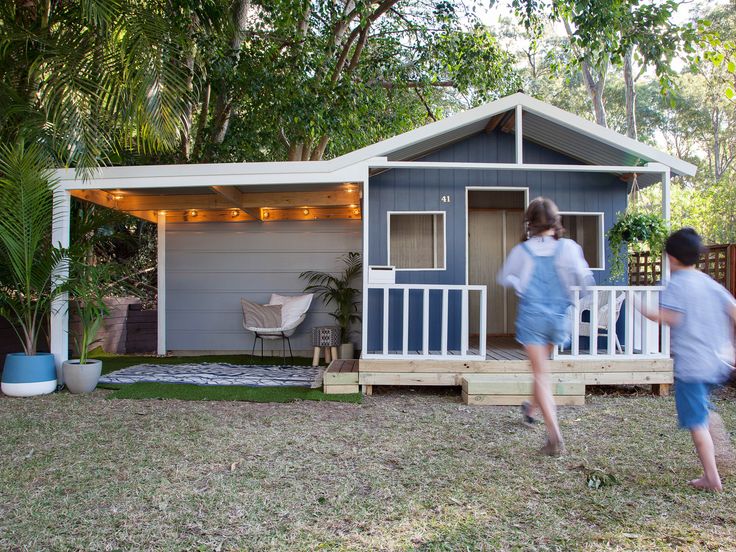
[[[604,166],[660,163],[669,167],[673,176],[695,174],[696,167],[691,163],[523,93],[405,132],[331,162],[343,167],[372,157],[387,157],[390,161],[416,159],[438,147],[481,132],[491,117],[511,111],[517,105],[523,110],[522,133],[525,139],[583,163]]]

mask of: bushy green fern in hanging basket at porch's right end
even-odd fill
[[[649,251],[654,257],[661,256],[667,235],[667,223],[659,215],[640,211],[619,213],[616,224],[607,234],[611,248],[611,280],[623,277],[630,252]]]

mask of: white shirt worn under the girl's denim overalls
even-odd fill
[[[558,246],[562,248],[555,259],[555,267],[566,289],[569,290],[571,286],[586,288],[595,284],[593,273],[583,256],[583,250],[573,240],[535,236],[530,238],[526,244],[535,255],[540,257],[552,256]],[[501,267],[497,278],[498,283],[504,287],[513,287],[516,294],[521,296],[531,280],[533,269],[534,259],[522,244],[518,244],[509,252],[506,262]]]

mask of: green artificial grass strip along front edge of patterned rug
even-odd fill
[[[100,386],[102,387],[102,386]],[[188,383],[139,382],[116,386],[109,399],[178,399],[182,401],[276,402],[332,401],[361,403],[360,393],[328,395],[306,387],[243,387],[239,385],[192,385]],[[110,388],[114,388],[110,386]]]

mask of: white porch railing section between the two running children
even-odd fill
[[[635,308],[635,304],[641,304],[656,310],[662,289],[661,286],[594,286],[584,294],[580,288],[573,288],[571,344],[565,350],[555,351],[555,358],[669,358],[669,328],[648,320]],[[583,321],[586,310],[589,318]],[[616,326],[622,325],[618,322],[620,316],[623,316],[623,335],[616,331]],[[587,349],[581,348],[581,337],[588,337]]]

